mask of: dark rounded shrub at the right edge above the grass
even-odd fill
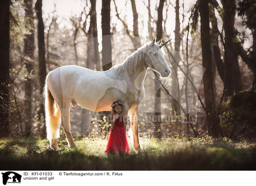
[[[244,91],[229,97],[219,115],[224,136],[256,139],[256,93]]]

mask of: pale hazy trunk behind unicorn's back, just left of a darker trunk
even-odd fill
[[[99,43],[96,21],[96,0],[90,0],[90,27],[88,30],[87,68],[100,71]]]

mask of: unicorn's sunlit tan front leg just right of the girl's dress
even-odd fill
[[[139,129],[138,129],[138,107],[136,108],[131,108],[129,110],[129,118],[131,122],[131,129],[132,129],[132,134],[133,134],[133,140],[134,140],[134,149],[137,151],[137,153],[145,153],[141,148],[140,148],[140,143],[139,143]]]

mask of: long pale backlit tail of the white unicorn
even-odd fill
[[[51,144],[54,137],[60,137],[59,126],[61,123],[61,111],[59,107],[56,106],[56,102],[48,89],[47,81],[45,81],[44,97],[47,139],[50,140]]]

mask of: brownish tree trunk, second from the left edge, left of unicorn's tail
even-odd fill
[[[24,58],[25,58],[25,66],[26,66],[26,74],[25,77],[25,92],[26,92],[26,99],[25,99],[25,109],[27,114],[27,121],[25,125],[25,135],[27,137],[31,134],[31,127],[32,127],[32,80],[31,74],[34,74],[34,51],[35,51],[35,34],[34,34],[34,16],[33,16],[33,9],[32,4],[33,0],[24,0],[25,3],[25,16],[29,18],[30,22],[29,25],[26,24],[26,29],[29,29],[30,34],[26,34],[24,38]]]

